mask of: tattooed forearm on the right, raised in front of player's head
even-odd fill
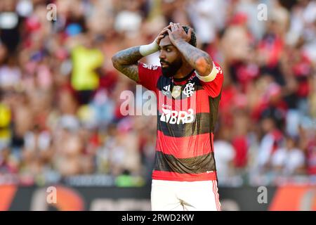
[[[185,57],[185,60],[195,68],[199,75],[207,76],[213,69],[213,61],[208,53],[197,49],[195,46],[187,43],[186,41],[177,41],[176,48]]]

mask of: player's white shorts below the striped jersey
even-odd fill
[[[152,180],[152,211],[220,211],[217,181]]]

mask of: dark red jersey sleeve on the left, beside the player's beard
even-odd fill
[[[162,75],[162,68],[157,65],[138,63],[138,84],[145,86],[150,91],[157,92],[157,82]]]

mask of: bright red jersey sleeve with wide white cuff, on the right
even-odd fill
[[[202,77],[197,75],[197,77],[209,96],[216,98],[220,94],[224,75],[223,70],[218,63],[213,63],[213,70],[209,76]]]

